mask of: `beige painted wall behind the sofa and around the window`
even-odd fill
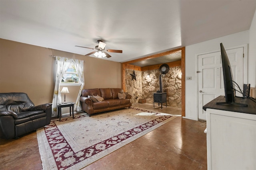
[[[0,39],[0,92],[25,92],[35,105],[51,103],[55,83],[51,55],[83,60],[84,88],[121,88],[121,63]],[[79,86],[68,90],[66,102],[76,102]]]

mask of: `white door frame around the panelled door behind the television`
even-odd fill
[[[241,47],[243,47],[243,49],[244,49],[243,82],[244,82],[244,84],[247,84],[247,82],[248,82],[248,44],[225,48],[225,50],[237,49],[237,48],[241,48]],[[196,54],[196,70],[195,70],[195,72],[198,71],[198,56],[199,55],[205,55],[208,53],[216,53],[216,52],[220,52],[220,49]],[[196,102],[196,111],[197,111],[196,120],[199,120],[198,119],[198,109],[199,109],[198,108],[198,73],[196,73],[196,89],[195,90],[196,90],[196,101],[197,101]]]

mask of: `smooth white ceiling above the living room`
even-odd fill
[[[0,0],[0,38],[126,62],[250,29],[256,0]],[[91,55],[93,57],[93,55]]]

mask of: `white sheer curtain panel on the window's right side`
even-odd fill
[[[74,65],[75,65],[75,68],[76,68],[76,72],[78,74],[78,78],[81,82],[81,86],[80,86],[80,89],[79,89],[79,92],[78,92],[78,96],[76,98],[76,104],[75,104],[75,111],[82,111],[82,107],[81,107],[81,104],[80,104],[80,95],[81,95],[81,92],[82,92],[82,89],[84,87],[84,61],[82,60],[74,60]]]

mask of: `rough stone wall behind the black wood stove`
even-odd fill
[[[133,70],[126,69],[126,91],[132,95],[132,103],[146,99],[153,103],[153,93],[160,90],[159,70],[136,71],[136,81],[130,74]],[[162,75],[163,92],[167,92],[167,106],[181,108],[181,66],[171,67],[167,74]],[[164,104],[165,105],[165,104]]]

